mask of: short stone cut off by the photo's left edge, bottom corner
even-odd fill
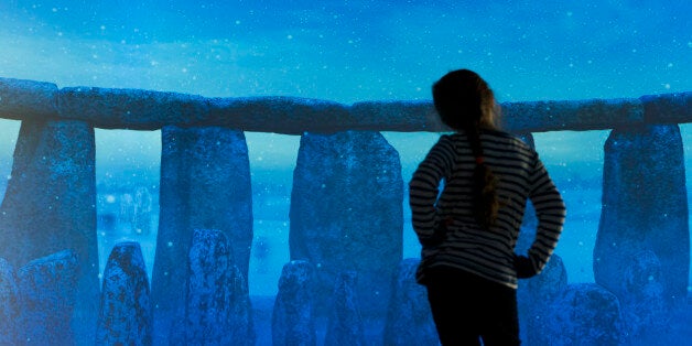
[[[22,299],[14,267],[0,258],[0,345],[20,342]]]

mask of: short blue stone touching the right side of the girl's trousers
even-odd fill
[[[550,309],[555,300],[567,288],[567,271],[562,258],[553,253],[543,271],[528,280],[519,282],[517,301],[519,305],[519,322],[521,339],[528,345],[550,345],[544,333]]]

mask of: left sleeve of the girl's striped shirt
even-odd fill
[[[425,246],[439,242],[437,213],[435,203],[440,194],[440,182],[452,175],[454,169],[454,143],[450,136],[442,136],[413,173],[409,183],[413,230]]]

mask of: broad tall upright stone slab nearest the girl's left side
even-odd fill
[[[364,316],[383,317],[402,257],[399,154],[378,132],[305,133],[291,194],[291,259],[316,268],[326,313],[338,273],[356,271]]]

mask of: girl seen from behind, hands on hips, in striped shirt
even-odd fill
[[[480,76],[446,74],[433,85],[433,102],[455,133],[440,138],[409,184],[422,245],[417,280],[428,289],[443,345],[519,345],[517,278],[548,262],[564,203],[536,151],[497,129],[498,107]],[[527,256],[517,256],[528,198],[538,229]]]

